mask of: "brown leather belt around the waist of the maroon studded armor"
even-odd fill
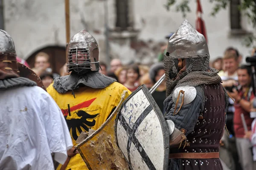
[[[209,159],[209,158],[219,158],[220,154],[218,152],[210,153],[170,153],[169,159],[175,158],[192,158],[192,159]]]

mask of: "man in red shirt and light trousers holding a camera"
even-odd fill
[[[253,118],[250,118],[250,101],[255,97],[251,86],[251,69],[249,66],[240,66],[237,74],[239,86],[233,88],[233,92],[230,92],[230,95],[236,101],[233,118],[236,147],[242,169],[253,170],[251,144],[247,138],[244,138],[245,130],[241,120],[241,114],[244,114],[247,128],[250,131],[253,122]]]

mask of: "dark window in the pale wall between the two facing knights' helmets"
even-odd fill
[[[116,0],[116,27],[121,30],[130,27],[129,0]]]

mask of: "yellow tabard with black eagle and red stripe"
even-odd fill
[[[119,104],[124,90],[131,94],[125,86],[117,82],[104,89],[80,87],[74,90],[74,98],[71,91],[64,94],[58,93],[52,84],[47,88],[47,92],[58,104],[67,121],[74,146],[77,145],[76,139],[82,131],[97,130],[107,120]],[[77,154],[70,159],[66,167],[66,170],[69,169],[87,170],[87,167],[81,156]]]

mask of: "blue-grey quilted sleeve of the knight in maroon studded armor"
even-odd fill
[[[180,111],[175,115],[173,115],[175,103],[172,101],[172,97],[169,96],[164,102],[166,108],[165,119],[172,120],[178,130],[182,128],[185,129],[185,135],[192,133],[198,120],[199,113],[204,110],[204,89],[201,86],[196,86],[195,89],[197,91],[195,99],[191,103],[182,106]],[[178,105],[178,108],[179,107],[180,106]]]

